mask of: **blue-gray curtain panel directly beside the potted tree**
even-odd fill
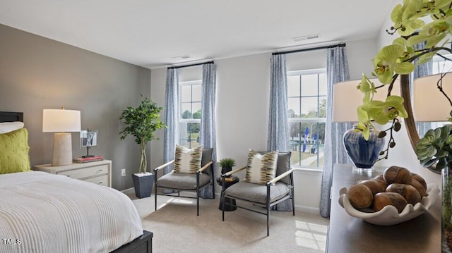
[[[174,160],[174,150],[179,143],[179,69],[168,68],[165,88],[165,124],[163,136],[163,162]],[[171,172],[173,166],[167,166],[163,173]]]

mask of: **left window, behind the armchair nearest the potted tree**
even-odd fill
[[[199,146],[201,128],[201,80],[179,82],[180,112],[179,144],[188,147]]]

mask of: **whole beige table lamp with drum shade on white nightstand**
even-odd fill
[[[72,163],[72,137],[70,132],[80,132],[80,111],[44,109],[42,132],[54,132],[52,166]]]

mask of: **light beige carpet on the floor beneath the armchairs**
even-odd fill
[[[325,252],[329,220],[318,214],[271,211],[267,237],[265,215],[237,209],[222,221],[218,197],[200,199],[199,216],[196,199],[158,195],[154,211],[154,195],[129,197],[154,233],[153,252]]]

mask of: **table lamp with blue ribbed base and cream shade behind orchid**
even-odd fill
[[[375,87],[381,86],[378,79],[370,79]],[[362,105],[364,94],[357,89],[361,80],[348,80],[338,82],[333,86],[333,122],[357,123],[357,107]],[[377,89],[374,100],[385,101],[389,85]],[[399,85],[393,85],[391,94],[400,95]],[[374,166],[379,153],[383,149],[385,140],[379,138],[373,130],[370,131],[369,140],[365,140],[361,132],[355,131],[356,125],[347,130],[343,136],[343,143],[348,157],[355,165],[354,168],[370,171]]]

